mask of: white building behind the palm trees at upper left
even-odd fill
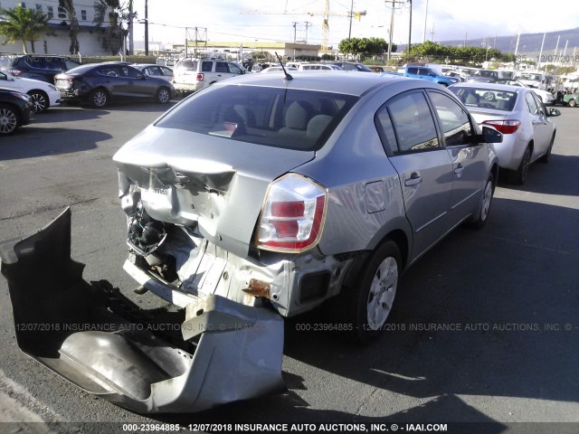
[[[37,54],[70,54],[71,38],[69,28],[71,21],[66,11],[58,6],[58,0],[0,0],[0,7],[12,9],[18,4],[30,9],[34,8],[48,15],[50,18],[50,33],[42,34],[40,40],[34,42],[34,52]],[[109,55],[102,48],[102,31],[95,29],[94,0],[77,0],[74,2],[76,17],[79,21],[79,47],[81,55]],[[51,34],[52,33],[52,34]],[[4,42],[4,41],[3,41]],[[0,45],[0,51],[22,53],[22,42]],[[26,50],[31,53],[30,43],[26,43]],[[76,53],[75,53],[76,54]]]

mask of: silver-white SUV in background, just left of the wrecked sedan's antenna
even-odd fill
[[[216,81],[242,75],[245,70],[233,61],[216,59],[182,59],[174,69],[175,90],[191,93]]]

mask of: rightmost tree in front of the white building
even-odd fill
[[[121,5],[119,0],[97,0],[94,3],[95,27],[104,27],[104,40],[102,48],[111,54],[117,54],[123,46],[127,30],[123,28],[123,22],[128,18],[128,10]]]

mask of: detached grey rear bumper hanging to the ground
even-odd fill
[[[71,211],[0,243],[25,354],[86,392],[142,413],[193,412],[284,390],[283,320],[209,296],[145,311],[71,259]]]

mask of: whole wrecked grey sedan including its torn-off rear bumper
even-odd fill
[[[25,312],[90,327],[17,329],[16,342],[141,413],[279,391],[282,316],[333,299],[336,330],[363,342],[381,335],[403,270],[461,222],[487,222],[498,175],[489,143],[500,139],[426,80],[304,71],[219,81],[113,157],[124,269],[138,292],[183,310],[145,311],[83,281],[68,210],[5,241],[3,274],[17,324]]]

